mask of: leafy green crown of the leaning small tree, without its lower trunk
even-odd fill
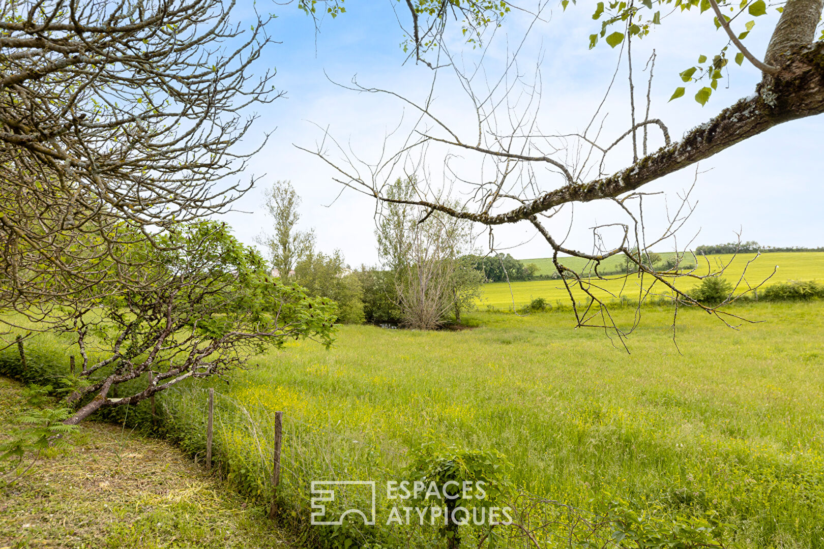
[[[167,318],[175,333],[192,333],[204,342],[258,332],[260,337],[238,339],[258,352],[282,347],[292,337],[331,344],[333,306],[307,299],[299,286],[270,280],[260,254],[236,240],[225,223],[180,226],[156,240],[163,249],[140,243],[132,250],[150,259],[136,269],[149,271],[147,287],[110,295],[98,308],[82,311],[101,349],[116,346],[119,361],[142,356],[158,331],[166,329]],[[300,329],[284,330],[286,323]],[[70,323],[63,330],[77,333],[77,326]]]

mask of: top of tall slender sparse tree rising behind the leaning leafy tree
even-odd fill
[[[315,248],[315,232],[295,229],[301,218],[297,212],[301,198],[290,182],[275,181],[264,193],[274,235],[260,235],[256,240],[269,253],[269,263],[277,271],[274,275],[286,281],[295,265]]]

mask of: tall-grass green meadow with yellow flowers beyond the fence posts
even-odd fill
[[[342,326],[330,351],[295,342],[215,385],[218,456],[265,497],[284,411],[281,493],[297,507],[311,480],[399,477],[429,438],[497,449],[517,486],[584,509],[625,497],[716,511],[740,547],[824,547],[824,304],[736,312],[765,322],[734,331],[681,312],[683,354],[667,307],[645,312],[632,354],[562,313],[478,313],[460,332]],[[164,406],[202,448],[202,389]]]

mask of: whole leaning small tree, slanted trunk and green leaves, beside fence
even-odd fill
[[[120,268],[132,286],[91,305],[77,302],[58,327],[62,337],[93,350],[82,353],[75,375],[61,376],[72,401],[98,399],[96,407],[80,407],[75,420],[100,407],[136,404],[190,377],[224,375],[287,341],[333,342],[335,305],[271,280],[260,254],[225,223],[177,226],[153,244],[124,249]],[[126,388],[131,392],[121,393]]]

